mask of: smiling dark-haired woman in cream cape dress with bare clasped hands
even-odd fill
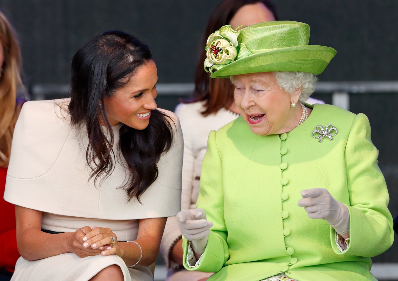
[[[74,55],[70,99],[25,103],[4,196],[21,254],[12,280],[153,280],[183,149],[157,80],[149,48],[110,31]]]

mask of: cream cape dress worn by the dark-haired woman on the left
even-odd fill
[[[87,133],[70,126],[64,110],[69,99],[31,101],[23,105],[14,131],[4,199],[10,203],[43,211],[42,229],[76,231],[86,225],[109,227],[119,241],[135,240],[138,219],[169,217],[181,209],[181,166],[183,141],[176,115],[172,147],[160,158],[158,178],[137,200],[127,202],[123,188],[126,170],[117,154],[119,128],[115,137],[115,169],[94,186],[86,163]],[[121,163],[122,164],[121,164]],[[117,264],[125,280],[153,280],[145,266],[128,268],[116,256],[79,258],[67,253],[36,261],[20,258],[12,280],[89,280],[101,269]]]

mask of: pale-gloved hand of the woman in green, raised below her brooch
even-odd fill
[[[349,232],[349,213],[342,203],[336,201],[325,188],[312,188],[301,191],[298,205],[304,207],[311,219],[324,219],[336,232],[344,235]]]

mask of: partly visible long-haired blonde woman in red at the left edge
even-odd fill
[[[24,99],[17,96],[21,82],[21,52],[12,25],[0,12],[0,192],[4,194],[12,134]],[[14,205],[0,199],[0,280],[10,280],[20,257],[15,234]]]

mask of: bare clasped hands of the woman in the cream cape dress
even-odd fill
[[[87,256],[103,255],[109,256],[111,254],[120,253],[117,239],[113,246],[113,239],[116,238],[116,234],[107,227],[82,227],[74,232],[72,240],[69,242],[70,252],[76,254],[80,258]]]

